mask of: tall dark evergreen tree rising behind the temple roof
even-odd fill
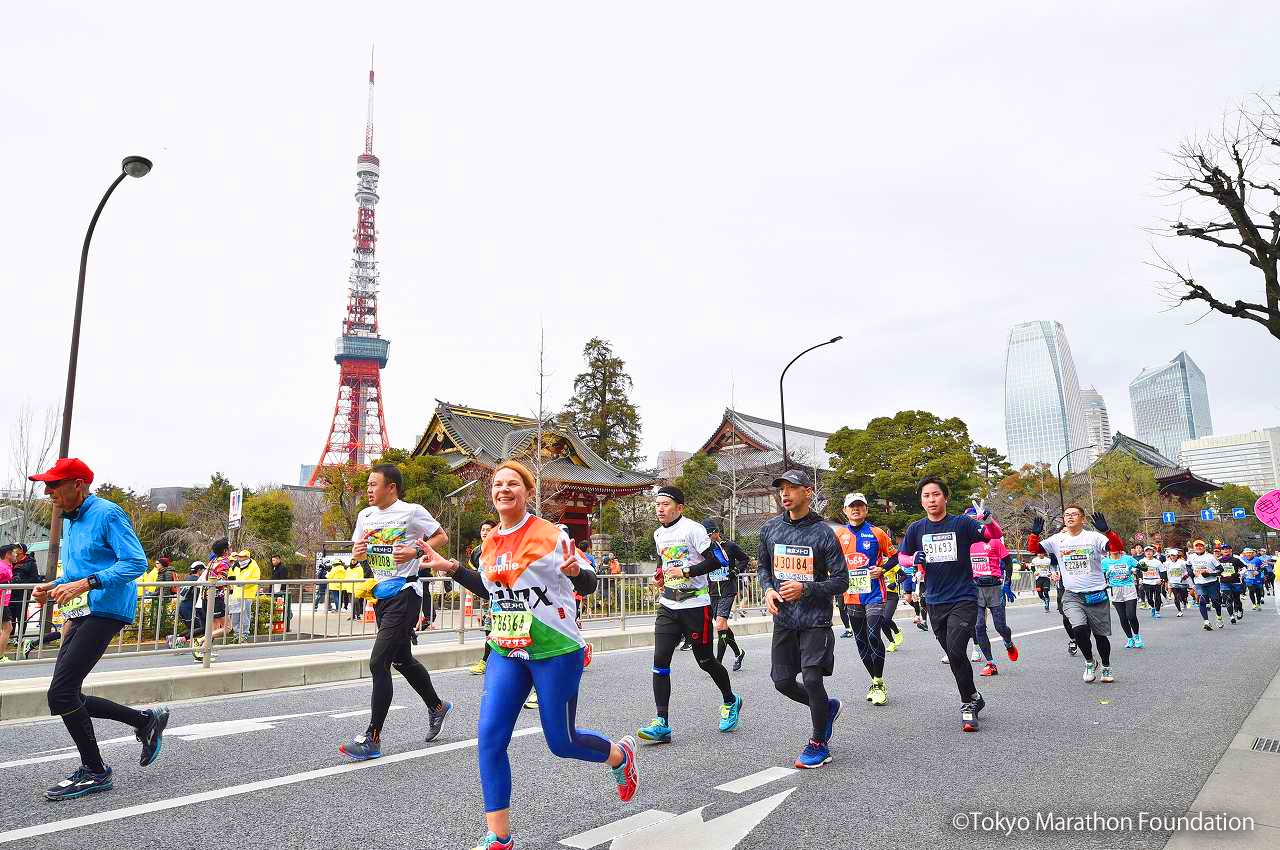
[[[573,379],[573,397],[559,415],[561,425],[572,429],[609,463],[632,470],[640,456],[640,413],[631,403],[631,376],[607,339],[593,337],[582,348],[586,371]]]

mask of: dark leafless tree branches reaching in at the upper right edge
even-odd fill
[[[1202,302],[1207,312],[1254,321],[1280,339],[1280,96],[1258,95],[1228,115],[1222,127],[1184,142],[1175,169],[1160,183],[1184,204],[1165,236],[1187,237],[1242,255],[1262,275],[1262,301],[1225,294],[1156,252],[1167,273],[1172,306]]]

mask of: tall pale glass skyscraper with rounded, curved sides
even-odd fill
[[[1009,332],[1005,352],[1005,439],[1014,469],[1057,463],[1089,444],[1080,381],[1066,333],[1056,321],[1024,321]],[[1085,469],[1092,457],[1073,454],[1066,469]]]

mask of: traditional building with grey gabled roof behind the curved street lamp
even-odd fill
[[[792,467],[803,467],[819,484],[815,502],[823,493],[820,477],[831,469],[827,431],[787,425],[787,454]],[[719,425],[698,449],[716,458],[724,501],[719,518],[731,534],[755,534],[781,508],[773,493],[773,479],[782,471],[782,424],[724,408]],[[820,508],[819,508],[820,509]]]

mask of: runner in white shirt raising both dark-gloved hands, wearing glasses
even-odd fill
[[[1027,535],[1027,548],[1032,554],[1046,553],[1057,558],[1059,582],[1062,586],[1062,617],[1070,625],[1075,645],[1084,655],[1084,681],[1094,682],[1098,678],[1092,638],[1098,648],[1098,659],[1102,662],[1102,681],[1114,682],[1111,605],[1107,580],[1102,575],[1102,558],[1108,545],[1123,552],[1124,540],[1111,530],[1101,511],[1093,515],[1093,527],[1097,531],[1088,531],[1084,527],[1084,508],[1079,504],[1066,506],[1062,511],[1062,524],[1065,527],[1061,531],[1042,541],[1044,517],[1037,513],[1032,520],[1032,533]]]

